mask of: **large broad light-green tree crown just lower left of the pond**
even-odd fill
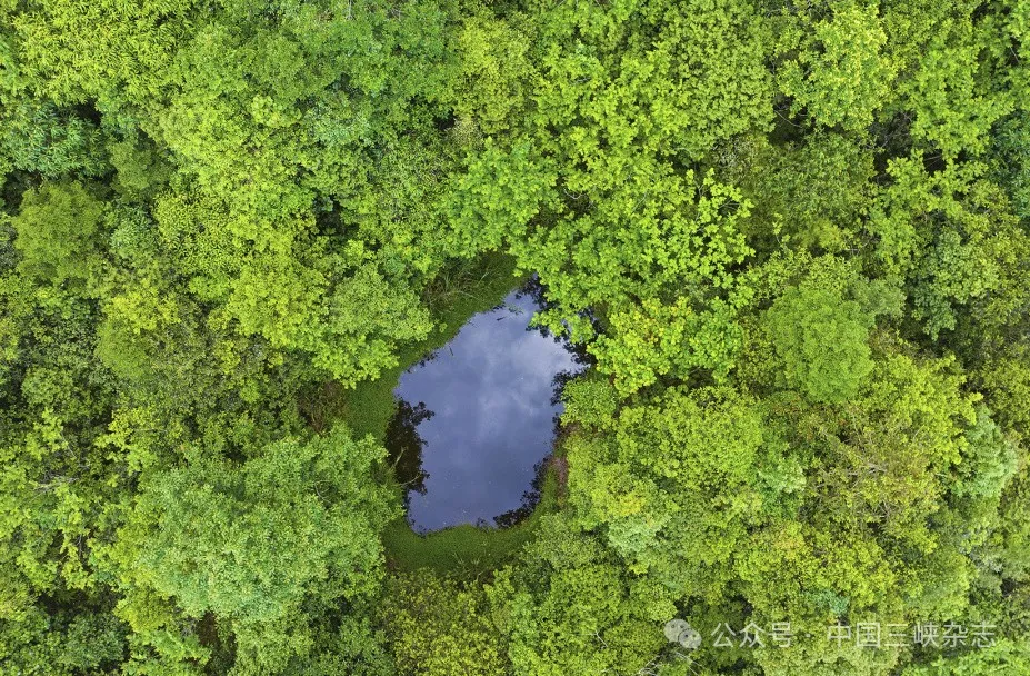
[[[396,508],[388,489],[370,485],[384,455],[371,438],[354,441],[341,427],[286,438],[240,467],[192,455],[146,477],[111,547],[123,584],[173,598],[194,618],[231,619],[237,649],[258,664],[269,659],[262,653],[302,652],[297,614],[309,595],[376,589],[379,530]]]

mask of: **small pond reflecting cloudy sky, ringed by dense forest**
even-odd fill
[[[530,282],[401,376],[387,447],[414,530],[507,526],[539,499],[561,387],[588,365],[529,326],[542,307]]]

